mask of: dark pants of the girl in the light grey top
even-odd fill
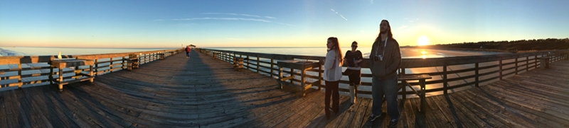
[[[325,81],[326,83],[326,97],[324,98],[324,103],[326,107],[324,107],[324,111],[326,112],[326,117],[330,116],[330,95],[332,96],[332,107],[331,109],[334,112],[339,112],[339,105],[340,105],[340,93],[338,91],[338,84],[340,81]]]

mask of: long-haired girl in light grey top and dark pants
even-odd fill
[[[339,112],[340,94],[338,85],[340,78],[342,78],[341,65],[344,64],[344,58],[340,50],[340,43],[338,38],[329,37],[326,43],[328,53],[326,53],[326,60],[324,61],[324,76],[323,79],[326,83],[326,97],[324,98],[324,111],[326,111],[326,119],[330,118],[330,111],[335,113]],[[332,107],[330,107],[330,96],[332,97]]]

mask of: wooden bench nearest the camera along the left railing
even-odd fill
[[[53,75],[50,75],[50,83],[56,83],[58,84],[58,88],[59,91],[63,91],[63,85],[65,84],[69,84],[69,83],[75,83],[75,82],[80,82],[80,81],[87,81],[89,80],[90,82],[93,82],[93,79],[95,78],[95,76],[93,76],[93,64],[95,64],[95,62],[93,60],[88,60],[88,59],[66,59],[66,60],[52,60],[50,61],[50,65],[52,67],[58,68],[58,75],[59,78],[54,80],[53,79]],[[75,80],[72,81],[63,81],[63,69],[67,68],[67,67],[79,67],[79,66],[84,66],[84,65],[89,65],[89,73],[83,73],[83,69],[78,69],[75,68],[75,76],[72,76],[72,78],[76,78]],[[50,69],[50,73],[53,73],[53,68]],[[83,76],[87,76],[87,77],[83,77]],[[83,77],[83,78],[82,78]]]

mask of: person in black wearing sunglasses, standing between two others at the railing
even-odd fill
[[[350,78],[350,103],[356,103],[356,87],[361,83],[361,67],[359,63],[363,61],[363,56],[358,48],[358,42],[351,42],[351,50],[346,52],[344,57],[344,64],[348,64],[348,69],[344,71],[344,74]]]

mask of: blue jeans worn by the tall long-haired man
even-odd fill
[[[387,100],[387,113],[389,117],[391,117],[391,119],[399,119],[399,110],[397,107],[397,81],[397,77],[389,79],[373,77],[371,79],[371,96],[373,97],[371,113],[373,115],[381,114],[383,95],[385,95],[385,100]]]

